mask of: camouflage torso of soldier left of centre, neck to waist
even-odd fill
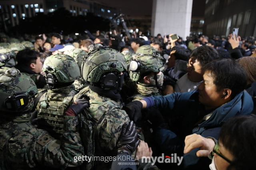
[[[64,133],[64,113],[72,104],[73,96],[68,96],[73,92],[74,86],[67,86],[63,88],[48,89],[44,93],[36,106],[38,109],[37,117],[38,128],[48,131],[56,139],[60,139]],[[42,90],[39,90],[39,94]],[[76,92],[74,92],[76,94]]]

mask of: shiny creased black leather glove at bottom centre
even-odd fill
[[[130,121],[129,124],[125,123],[123,125],[119,139],[120,140],[117,144],[117,154],[126,153],[131,155],[140,143],[140,139],[138,139],[138,133],[133,121]]]

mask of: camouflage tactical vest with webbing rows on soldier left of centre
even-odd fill
[[[38,121],[38,128],[44,129],[50,133],[54,138],[60,139],[64,131],[64,113],[68,106],[72,104],[74,95],[77,94],[72,90],[62,103],[54,103],[48,101],[47,93],[44,93],[39,100],[39,110],[37,117],[41,118]]]

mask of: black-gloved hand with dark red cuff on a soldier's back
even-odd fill
[[[89,107],[89,101],[86,98],[85,94],[80,95],[73,104],[66,111],[67,116],[75,116],[81,113],[85,107]]]

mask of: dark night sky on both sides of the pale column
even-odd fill
[[[94,0],[121,9],[128,16],[151,16],[153,0]],[[193,0],[192,16],[204,16],[206,0]]]

